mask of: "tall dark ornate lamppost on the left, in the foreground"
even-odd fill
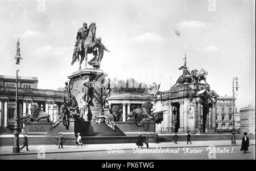
[[[20,59],[20,48],[19,48],[19,40],[17,44],[17,52],[15,56],[16,65],[19,65]],[[15,104],[16,104],[16,112],[15,112],[15,125],[14,125],[14,146],[13,146],[13,153],[19,153],[19,114],[18,114],[18,72],[16,70],[16,96],[15,96]]]

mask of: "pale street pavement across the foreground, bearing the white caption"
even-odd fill
[[[79,147],[64,144],[62,149],[58,149],[56,145],[29,146],[30,151],[26,151],[25,147],[20,153],[13,153],[12,146],[3,146],[0,147],[0,159],[209,159],[209,146],[218,149],[216,159],[255,160],[255,140],[250,140],[250,153],[247,154],[240,151],[241,140],[237,140],[236,146],[230,140],[217,140],[195,141],[192,144],[150,143],[150,148],[143,147],[139,150],[134,143],[86,144]],[[161,151],[164,149],[166,151]],[[42,157],[42,153],[45,157]]]

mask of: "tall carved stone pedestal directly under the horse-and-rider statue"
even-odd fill
[[[92,80],[96,80],[94,87],[89,90],[90,101],[88,103],[88,112],[87,116],[83,116],[86,120],[91,121],[96,114],[99,113],[99,110],[103,109],[102,101],[102,84],[104,83],[105,77],[108,76],[101,69],[86,68],[76,72],[73,72],[68,78],[70,79],[69,86],[71,87],[71,95],[75,96],[76,101],[80,109],[85,107],[85,102],[82,99],[84,93],[82,88],[84,87],[83,78],[89,76]]]

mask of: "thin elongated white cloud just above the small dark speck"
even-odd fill
[[[210,23],[203,23],[203,22],[200,22],[198,20],[190,20],[190,21],[183,21],[183,22],[180,22],[180,23],[176,23],[175,24],[177,26],[177,28],[179,29],[201,29],[201,28],[206,28],[206,27],[209,27],[211,24]]]

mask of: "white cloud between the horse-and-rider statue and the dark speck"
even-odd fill
[[[143,33],[137,37],[134,37],[135,41],[141,41],[141,42],[163,42],[164,38],[157,33],[154,32],[146,32]]]

